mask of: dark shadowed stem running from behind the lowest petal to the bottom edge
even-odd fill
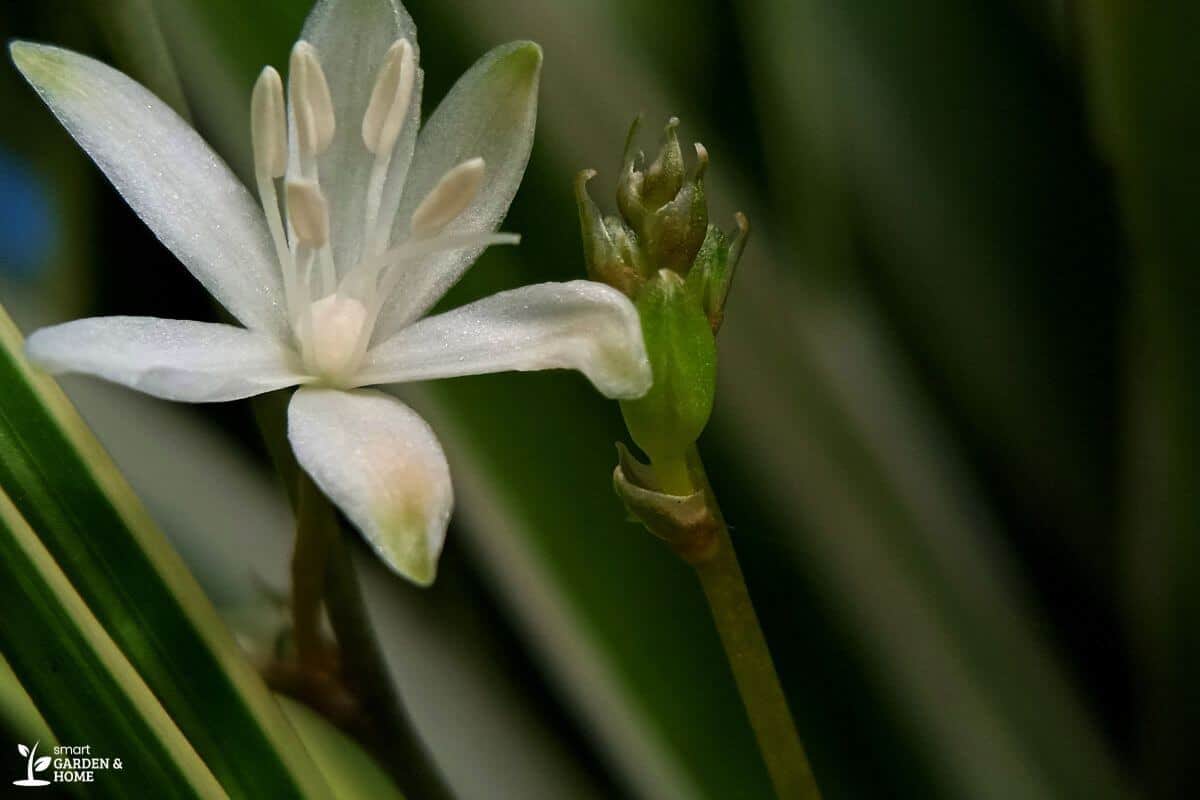
[[[318,495],[332,531],[325,565],[325,608],[341,650],[344,679],[370,724],[371,748],[409,800],[452,800],[392,686],[359,587],[352,543],[329,500]]]

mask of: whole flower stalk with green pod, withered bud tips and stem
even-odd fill
[[[775,794],[817,800],[820,789],[696,449],[713,409],[715,336],[749,224],[740,213],[733,235],[709,224],[708,151],[697,143],[689,169],[678,126],[676,119],[667,124],[658,157],[646,166],[634,124],[617,188],[619,216],[604,216],[588,196],[593,170],[575,181],[588,275],[634,300],[654,375],[644,396],[620,404],[630,435],[650,463],[618,445],[613,488],[630,513],[695,570]]]

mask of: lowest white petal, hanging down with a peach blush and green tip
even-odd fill
[[[388,566],[422,587],[433,583],[454,492],[425,420],[382,392],[301,389],[288,407],[288,439]]]

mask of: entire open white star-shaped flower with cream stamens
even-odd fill
[[[30,359],[186,402],[300,385],[288,409],[300,465],[412,581],[428,584],[436,572],[449,468],[424,420],[364,386],[565,367],[612,397],[648,389],[636,311],[599,283],[542,283],[424,317],[480,251],[516,242],[493,230],[529,157],[536,44],[485,55],[420,127],[416,31],[403,7],[318,2],[292,52],[287,97],[270,67],[252,95],[260,205],[191,127],[120,72],[25,42],[12,56],[133,210],[245,326],[82,319],[35,332]]]

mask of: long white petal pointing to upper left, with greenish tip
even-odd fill
[[[29,42],[12,59],[143,222],[244,325],[288,335],[263,211],[166,103],[71,50]]]

